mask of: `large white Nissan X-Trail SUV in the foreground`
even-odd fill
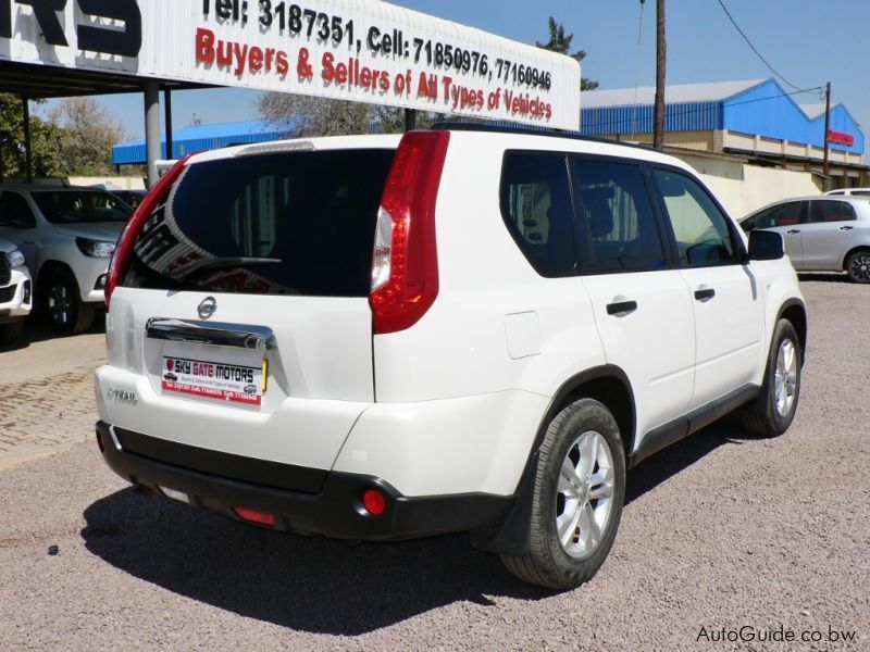
[[[261,526],[472,532],[574,587],[625,469],[741,409],[792,423],[807,319],[778,234],[683,163],[481,127],[254,145],[167,174],[107,286],[98,443]]]

